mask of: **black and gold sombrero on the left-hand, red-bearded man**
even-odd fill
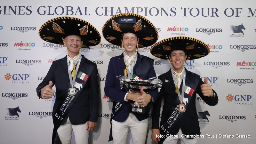
[[[99,31],[85,20],[74,17],[58,17],[46,21],[38,32],[46,42],[63,44],[62,37],[68,35],[80,36],[83,40],[82,47],[94,46],[100,43]]]

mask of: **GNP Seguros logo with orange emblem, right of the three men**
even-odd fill
[[[228,94],[226,100],[234,105],[252,105],[252,95]]]

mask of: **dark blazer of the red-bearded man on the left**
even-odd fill
[[[82,55],[81,63],[78,71],[84,72],[88,65],[92,65],[94,68],[92,74],[87,80],[82,92],[78,96],[74,105],[68,113],[71,124],[84,124],[87,121],[97,122],[99,111],[99,77],[97,65],[92,61],[86,59]],[[68,77],[68,65],[67,56],[53,61],[52,66],[49,69],[47,75],[44,77],[42,83],[36,88],[37,95],[39,95],[39,89],[47,84],[49,81],[53,82],[56,87],[56,100],[53,106],[52,114],[55,113],[58,105],[61,101],[65,100],[64,95],[67,93],[68,87],[70,87],[70,81]],[[52,115],[54,116],[54,115]],[[62,124],[67,121],[67,117],[63,120]]]

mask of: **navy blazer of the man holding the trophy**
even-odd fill
[[[140,55],[139,52],[137,52],[137,61],[136,64],[133,67],[133,74],[136,75],[136,69],[138,68],[138,65],[140,64],[140,61],[143,57],[143,55]],[[124,56],[123,53],[119,56],[113,57],[109,60],[108,64],[108,73],[106,76],[106,82],[105,82],[105,95],[109,98],[113,99],[113,110],[115,109],[114,106],[116,105],[116,102],[122,103],[122,108],[119,109],[118,114],[115,115],[113,118],[117,122],[124,122],[127,117],[129,116],[129,109],[128,109],[128,102],[124,101],[124,96],[127,93],[125,91],[125,88],[121,90],[120,87],[120,81],[119,78],[124,76],[124,69],[126,68],[124,64]],[[154,70],[153,64],[149,68],[148,72],[144,75],[144,77],[140,77],[141,79],[150,80],[156,78],[156,72]],[[124,86],[123,86],[124,87]],[[148,92],[149,94],[153,95],[154,101],[158,97],[158,89],[155,88],[153,91]],[[144,120],[148,118],[148,113],[145,114],[134,114],[139,121]]]

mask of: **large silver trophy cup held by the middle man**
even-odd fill
[[[127,76],[122,76],[119,78],[121,89],[123,89],[123,84],[129,90],[129,92],[140,92],[140,89],[143,87],[144,92],[149,92],[156,87],[158,87],[158,92],[160,91],[163,82],[160,79],[154,79],[152,81],[142,80],[142,79],[129,79]],[[144,114],[148,113],[149,106],[140,106],[137,102],[133,100],[129,101],[129,109],[133,113]]]

